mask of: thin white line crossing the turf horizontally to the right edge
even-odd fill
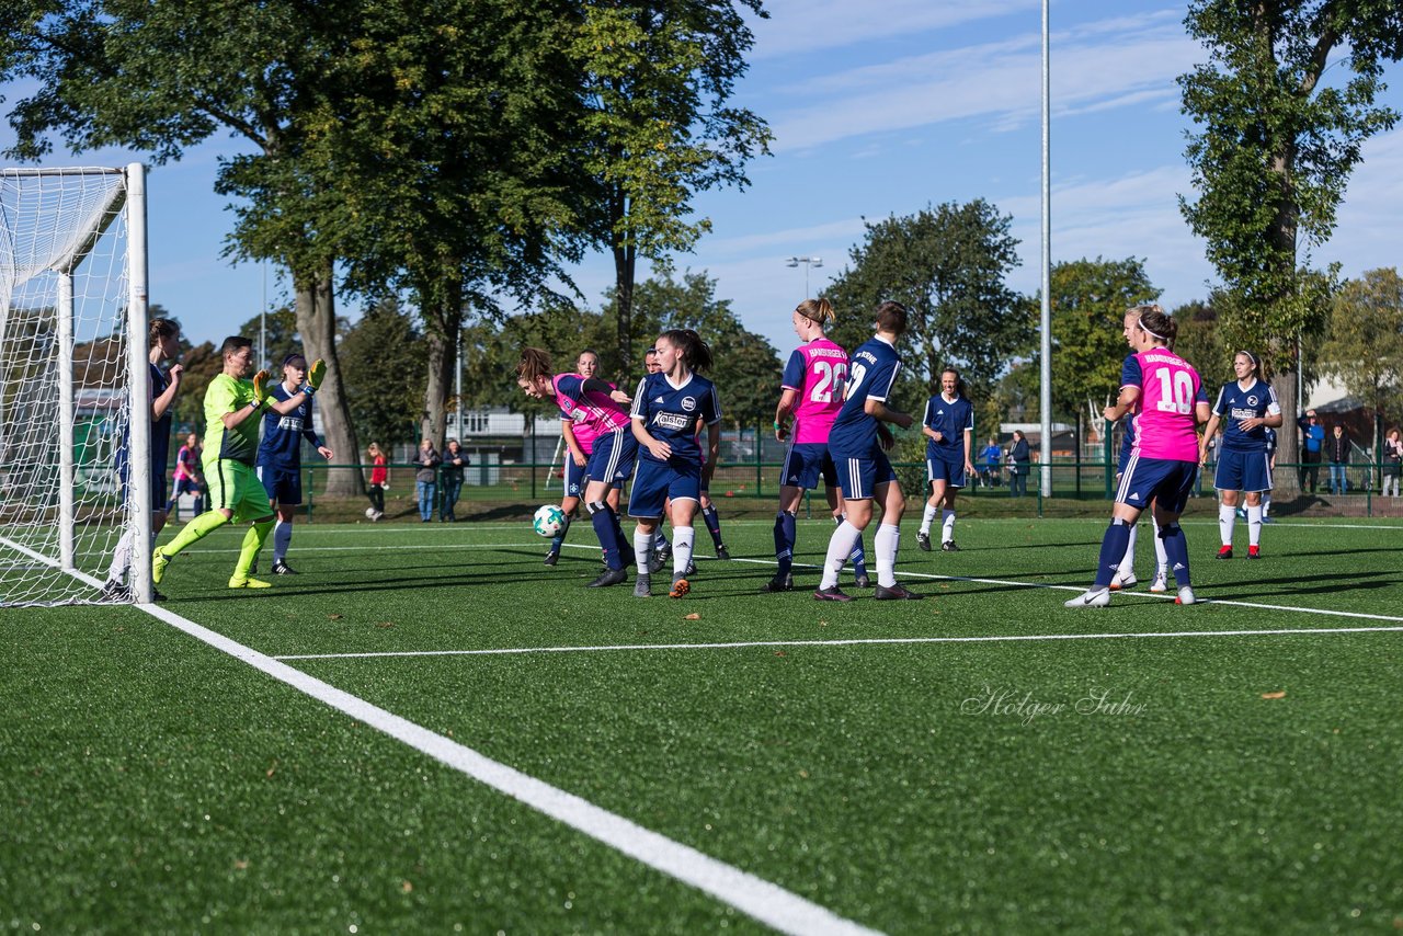
[[[274,660],[369,660],[376,657],[495,657],[506,654],[598,653],[606,650],[746,650],[765,647],[864,647],[888,644],[995,644],[1040,640],[1122,640],[1136,637],[1277,637],[1285,634],[1403,633],[1399,627],[1316,627],[1282,630],[1166,630],[1160,633],[988,634],[978,637],[853,637],[847,640],[749,640],[717,644],[600,644],[598,647],[494,647],[488,650],[401,650],[358,654],[289,654]]]

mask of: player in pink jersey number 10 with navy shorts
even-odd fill
[[[1115,511],[1101,539],[1096,581],[1066,602],[1068,608],[1104,608],[1111,602],[1111,578],[1125,556],[1129,528],[1150,501],[1155,502],[1155,528],[1179,584],[1176,603],[1194,603],[1188,546],[1179,515],[1198,470],[1198,427],[1208,422],[1211,408],[1198,372],[1170,351],[1179,324],[1159,309],[1145,312],[1135,323],[1132,347],[1136,352],[1125,358],[1121,368],[1121,394],[1115,406],[1106,408],[1111,422],[1136,413],[1135,448],[1115,491]]]

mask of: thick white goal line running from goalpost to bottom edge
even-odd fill
[[[156,605],[137,605],[140,610],[164,620],[171,627],[201,640],[210,647],[241,660],[299,692],[323,702],[396,741],[429,755],[439,763],[485,783],[513,800],[544,813],[565,825],[623,852],[648,867],[669,874],[762,923],[783,933],[874,933],[812,904],[797,894],[760,880],[753,874],[718,862],[702,852],[673,842],[637,825],[622,815],[603,810],[581,797],[553,787],[505,763],[492,761],[471,748],[450,741],[397,714],[373,706],[365,699],[309,676],[275,658],[246,647],[208,627],[202,627],[177,613]]]

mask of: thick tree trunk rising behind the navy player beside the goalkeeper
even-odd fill
[[[335,452],[331,459],[334,463],[347,464],[361,460],[361,446],[356,445],[355,425],[351,422],[345,385],[337,363],[337,310],[331,278],[330,261],[320,264],[316,271],[293,271],[293,289],[297,293],[297,333],[302,334],[303,352],[311,361],[321,358],[327,362],[327,376],[316,403],[327,431],[327,448]],[[365,494],[365,479],[355,469],[331,469],[327,473],[325,493],[334,497],[361,497]]]

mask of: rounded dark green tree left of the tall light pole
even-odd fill
[[[852,264],[829,289],[838,310],[829,337],[850,351],[871,337],[881,300],[906,306],[898,407],[923,406],[946,366],[960,369],[975,401],[989,399],[1012,359],[1031,347],[1019,295],[1006,282],[1020,262],[1012,223],[984,199],[867,222]]]

